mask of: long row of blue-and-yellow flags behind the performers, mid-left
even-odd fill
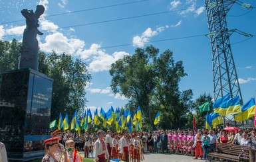
[[[63,130],[75,130],[80,134],[81,130],[84,130],[85,132],[88,131],[88,125],[92,124],[94,126],[94,129],[97,129],[97,126],[99,124],[102,124],[104,128],[106,128],[108,125],[114,125],[116,128],[116,132],[121,132],[121,130],[127,129],[129,132],[132,132],[135,130],[141,130],[142,129],[142,111],[140,109],[140,106],[136,109],[136,112],[132,114],[130,110],[124,110],[123,108],[114,108],[111,106],[107,112],[103,110],[103,108],[100,108],[100,116],[98,116],[98,109],[94,111],[94,118],[92,118],[92,112],[90,111],[90,108],[87,108],[87,110],[84,112],[82,119],[78,119],[77,111],[75,110],[74,115],[72,116],[72,121],[69,125],[68,122],[68,114],[66,113],[66,116],[63,120],[62,114],[60,112],[59,114],[59,121],[53,120],[53,122],[50,123],[50,128],[53,128],[55,126],[58,127],[58,129]],[[160,111],[156,114],[156,118],[154,120],[154,124],[158,124],[160,122]]]

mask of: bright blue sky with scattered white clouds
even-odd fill
[[[243,2],[256,7],[256,1]],[[211,46],[209,38],[202,36],[208,33],[203,0],[0,0],[0,40],[21,41],[25,28],[21,10],[35,11],[36,5],[46,8],[39,19],[39,30],[44,32],[38,36],[41,50],[66,52],[88,65],[92,81],[86,98],[91,110],[128,102],[113,95],[108,70],[114,61],[150,44],[160,52],[170,49],[176,61],[184,61],[188,76],[180,82],[181,91],[192,89],[194,100],[203,93],[213,95]],[[235,4],[227,26],[255,36],[255,15],[255,8],[250,11]],[[230,38],[244,102],[256,93],[256,39],[246,39],[237,33]]]

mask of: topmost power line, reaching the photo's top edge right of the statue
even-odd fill
[[[70,14],[70,13],[80,13],[80,12],[84,12],[84,11],[92,11],[92,10],[97,10],[97,9],[105,9],[105,8],[117,7],[117,6],[121,6],[121,5],[130,5],[132,3],[140,3],[140,2],[144,2],[144,1],[149,1],[149,0],[141,0],[141,1],[133,1],[133,2],[128,2],[128,3],[120,3],[120,4],[116,4],[116,5],[108,5],[108,6],[103,6],[103,7],[95,7],[95,8],[92,8],[92,9],[82,9],[82,10],[78,10],[78,11],[72,11],[72,12],[48,15],[48,16],[45,16],[45,17],[56,17],[56,16],[59,16],[59,15],[66,15],[66,14]],[[9,22],[2,22],[0,24],[9,24],[9,23],[21,22],[21,21],[24,21],[24,20],[13,20],[13,21],[9,21]]]

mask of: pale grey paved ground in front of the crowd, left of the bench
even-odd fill
[[[84,154],[81,153],[83,156]],[[175,155],[167,153],[145,153],[145,162],[199,162],[201,159],[193,159],[194,157],[186,155]],[[144,162],[141,161],[141,162]]]

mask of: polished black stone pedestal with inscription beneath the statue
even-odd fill
[[[1,75],[0,141],[9,161],[27,161],[44,155],[49,136],[53,79],[33,69]]]

